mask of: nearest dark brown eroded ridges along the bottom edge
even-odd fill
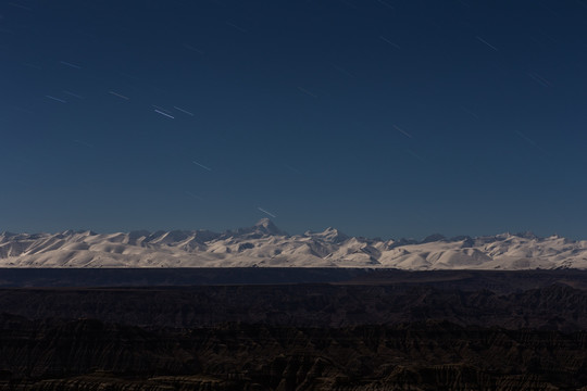
[[[0,318],[0,390],[587,390],[587,333]]]

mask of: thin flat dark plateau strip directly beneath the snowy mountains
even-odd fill
[[[509,293],[562,282],[587,289],[587,270],[423,270],[321,267],[0,268],[0,288],[187,287],[213,285],[341,283]]]

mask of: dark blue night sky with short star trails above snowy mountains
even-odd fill
[[[587,238],[587,1],[7,0],[0,72],[0,230]]]

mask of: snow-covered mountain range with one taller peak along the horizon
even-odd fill
[[[533,234],[422,241],[348,237],[334,228],[290,236],[270,219],[209,230],[0,234],[0,267],[587,268],[587,240]]]

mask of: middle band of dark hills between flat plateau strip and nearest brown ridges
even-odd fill
[[[147,329],[225,323],[330,328],[432,319],[460,326],[587,330],[587,291],[562,283],[507,294],[427,285],[2,289],[0,308],[30,319],[89,318]]]

